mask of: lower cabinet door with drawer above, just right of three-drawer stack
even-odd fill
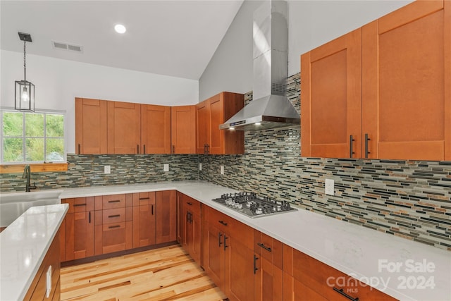
[[[155,192],[134,193],[133,247],[155,245]]]

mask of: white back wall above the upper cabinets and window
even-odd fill
[[[14,106],[14,81],[23,80],[23,53],[1,50],[0,106]],[[197,80],[27,54],[27,80],[37,109],[66,111],[67,151],[75,152],[75,97],[167,106],[196,104]]]

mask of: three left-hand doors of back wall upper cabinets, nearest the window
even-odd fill
[[[78,154],[170,154],[171,107],[75,98],[75,147]]]

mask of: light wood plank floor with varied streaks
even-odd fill
[[[61,269],[61,300],[225,298],[179,245]]]

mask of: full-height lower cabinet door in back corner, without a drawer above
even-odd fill
[[[175,190],[156,192],[156,243],[176,240],[176,207]]]

